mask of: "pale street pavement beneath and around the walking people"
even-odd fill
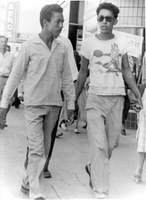
[[[20,109],[11,108],[7,124],[7,128],[0,130],[0,200],[28,199],[20,192],[26,154],[23,105]],[[49,167],[52,178],[43,179],[43,189],[49,200],[95,199],[85,172],[90,155],[86,130],[82,125],[80,122],[80,134],[73,132],[72,125],[56,139]],[[135,135],[135,130],[127,130],[127,136],[121,135],[120,145],[113,152],[109,199],[146,199],[146,163],[143,182],[135,184],[133,178],[137,163]]]

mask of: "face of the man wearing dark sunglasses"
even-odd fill
[[[101,33],[111,33],[117,19],[114,18],[110,10],[102,9],[97,16],[97,22]]]

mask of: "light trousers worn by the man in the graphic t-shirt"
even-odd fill
[[[87,97],[87,134],[91,147],[91,181],[95,192],[109,193],[109,159],[122,127],[123,96]]]

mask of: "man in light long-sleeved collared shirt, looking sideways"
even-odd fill
[[[27,129],[28,167],[22,191],[30,198],[43,200],[41,190],[45,156],[51,145],[51,134],[62,106],[61,90],[67,99],[68,118],[74,115],[75,90],[68,66],[66,47],[55,38],[63,27],[63,9],[46,5],[40,12],[41,32],[25,42],[6,84],[0,108],[0,128],[10,98],[22,77],[24,86],[25,123]]]

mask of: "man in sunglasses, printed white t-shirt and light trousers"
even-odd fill
[[[96,197],[106,198],[109,193],[109,159],[112,150],[118,145],[122,126],[125,95],[123,77],[137,97],[139,109],[142,102],[128,64],[126,44],[122,44],[112,32],[117,23],[118,7],[111,3],[101,3],[96,13],[99,33],[82,44],[76,102],[89,69],[90,84],[86,111],[91,157],[85,169]]]

